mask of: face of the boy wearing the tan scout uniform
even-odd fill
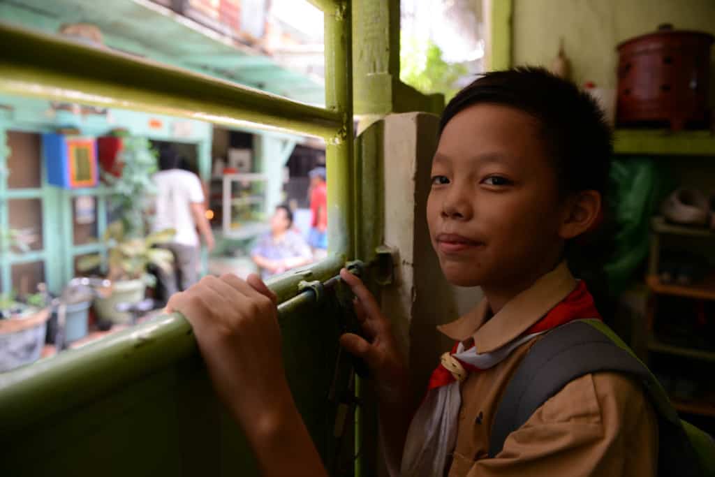
[[[536,119],[475,104],[448,122],[433,159],[427,218],[451,283],[528,285],[550,271],[563,247],[564,208]]]

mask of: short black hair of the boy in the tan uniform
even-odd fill
[[[502,104],[534,117],[554,159],[561,191],[596,190],[605,199],[613,139],[603,111],[590,94],[543,68],[485,73],[449,102],[440,133],[455,114],[480,103]]]

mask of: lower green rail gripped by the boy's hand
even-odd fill
[[[341,266],[331,257],[318,263],[313,272],[272,282],[277,295],[292,295],[279,305],[279,321],[316,301],[310,290],[298,293],[296,279],[325,282],[335,277]],[[179,314],[162,315],[82,348],[0,374],[0,436],[91,402],[196,352],[187,320]]]

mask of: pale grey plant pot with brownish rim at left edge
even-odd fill
[[[45,308],[0,320],[0,373],[39,359],[49,315],[49,308]]]

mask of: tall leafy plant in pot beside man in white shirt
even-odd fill
[[[157,155],[149,141],[124,135],[117,160],[122,173],[118,177],[104,174],[112,189],[111,214],[116,219],[104,234],[109,245],[107,278],[112,281],[111,294],[95,298],[94,308],[101,321],[127,323],[129,315],[117,312],[117,304],[139,303],[144,298],[147,285],[154,283],[154,277],[147,273],[149,264],[172,267],[172,253],[155,246],[171,240],[175,231],[146,235],[147,209],[154,194],[152,174],[157,171]],[[80,260],[78,268],[92,270],[101,262],[97,255],[89,255]]]

